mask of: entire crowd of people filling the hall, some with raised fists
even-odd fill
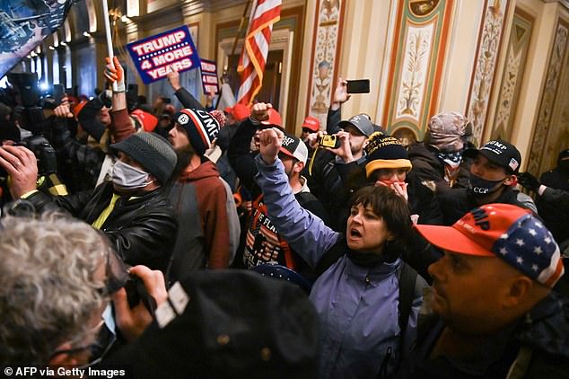
[[[569,377],[569,149],[538,180],[468,119],[0,103],[0,363],[91,376]],[[29,101],[28,101],[29,103]],[[28,106],[28,108],[30,108]],[[36,113],[34,113],[36,114]],[[530,196],[531,195],[531,196]]]

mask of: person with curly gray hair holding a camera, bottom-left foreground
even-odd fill
[[[0,224],[0,365],[83,366],[104,327],[109,295],[124,281],[109,242],[90,225],[57,214],[6,216]],[[115,263],[113,263],[115,262]],[[123,268],[124,269],[124,268]],[[160,271],[130,269],[157,305],[166,299]],[[124,289],[113,296],[119,331],[134,339],[152,322]],[[108,351],[110,345],[102,348]],[[100,359],[99,359],[100,360]],[[94,363],[93,362],[93,363]]]

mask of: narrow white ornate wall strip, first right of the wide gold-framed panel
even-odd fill
[[[496,62],[500,55],[504,18],[509,3],[508,0],[486,0],[483,22],[478,32],[477,57],[468,90],[466,112],[472,121],[477,145],[482,142],[486,128],[488,102],[494,88]]]

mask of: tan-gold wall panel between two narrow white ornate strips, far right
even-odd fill
[[[533,22],[534,18],[530,14],[521,11],[520,8],[515,9],[491,139],[501,138],[509,141],[512,138],[513,121],[518,109]]]

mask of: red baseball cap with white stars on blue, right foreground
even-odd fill
[[[564,274],[553,235],[528,209],[486,204],[452,226],[416,225],[433,245],[446,251],[497,256],[544,286],[553,287]]]

